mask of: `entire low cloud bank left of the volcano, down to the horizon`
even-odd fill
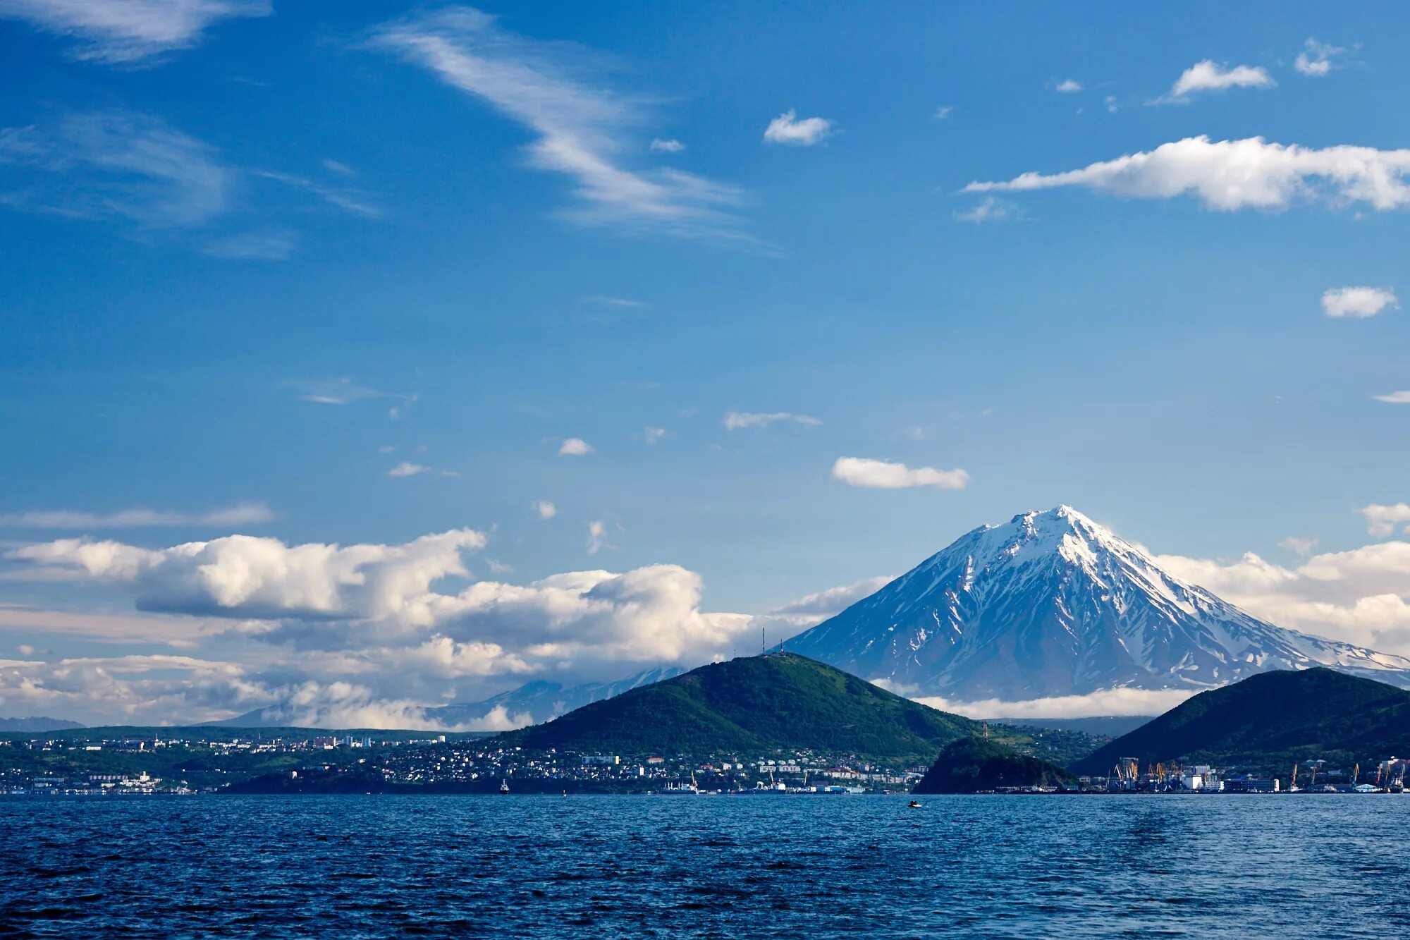
[[[467,689],[523,675],[616,677],[625,663],[694,666],[757,629],[749,615],[702,611],[699,574],[678,566],[477,582],[462,555],[484,545],[458,529],[405,545],[226,536],[166,549],[89,539],[14,549],[6,559],[21,573],[63,572],[172,615],[0,607],[0,629],[106,642],[220,637],[252,652],[245,663],[0,661],[0,703],[89,721],[188,723],[276,706],[295,724],[434,727],[424,709],[465,700]]]

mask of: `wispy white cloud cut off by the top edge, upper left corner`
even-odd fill
[[[109,65],[190,48],[220,20],[269,13],[268,0],[0,0],[0,17],[75,37],[75,58]]]

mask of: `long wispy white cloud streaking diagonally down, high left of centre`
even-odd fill
[[[642,120],[637,100],[582,80],[594,68],[581,49],[501,30],[470,7],[412,14],[378,27],[372,48],[433,72],[523,124],[534,135],[529,162],[575,182],[585,223],[619,223],[678,236],[742,239],[728,212],[736,186],[677,169],[632,169],[627,128]]]

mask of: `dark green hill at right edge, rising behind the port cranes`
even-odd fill
[[[1293,761],[1352,761],[1410,754],[1410,692],[1334,669],[1265,672],[1201,692],[1077,761],[1104,775],[1121,757],[1141,765],[1184,761],[1282,768]]]

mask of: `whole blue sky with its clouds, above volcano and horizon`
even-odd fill
[[[0,714],[406,727],[1058,504],[1407,653],[1407,42],[0,0]]]

